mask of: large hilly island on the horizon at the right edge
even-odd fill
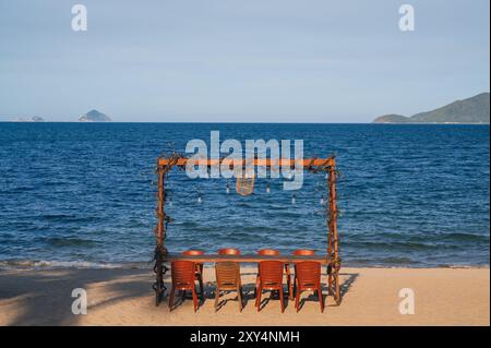
[[[464,100],[456,100],[444,107],[411,117],[385,115],[373,123],[475,123],[489,124],[489,93],[481,93]]]

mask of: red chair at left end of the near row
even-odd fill
[[[172,311],[173,297],[176,290],[181,290],[182,299],[185,298],[185,291],[191,290],[193,296],[194,312],[197,311],[197,295],[195,287],[195,269],[196,266],[191,261],[172,261],[170,264],[172,273],[172,288],[169,297],[169,310]]]

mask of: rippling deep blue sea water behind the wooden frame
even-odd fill
[[[233,123],[0,123],[0,265],[148,262],[156,157],[213,130],[337,155],[345,265],[489,265],[489,125]],[[232,181],[227,194],[226,179],[175,170],[167,247],[323,252],[324,180],[306,173],[292,204],[282,179],[258,179],[243,197]]]

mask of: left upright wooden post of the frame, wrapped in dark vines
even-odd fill
[[[156,255],[155,255],[155,272],[156,272],[156,283],[155,283],[155,304],[158,305],[160,303],[161,297],[164,295],[164,255],[165,255],[165,171],[163,166],[157,165],[157,227],[156,227]]]

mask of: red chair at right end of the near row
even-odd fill
[[[324,312],[324,298],[321,285],[321,264],[313,261],[301,261],[295,263],[295,275],[297,278],[297,291],[295,296],[295,309],[299,311],[300,295],[302,291],[315,291],[319,296],[321,312]]]

